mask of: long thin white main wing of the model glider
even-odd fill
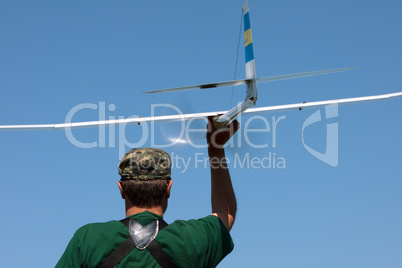
[[[367,97],[357,97],[348,99],[338,99],[338,100],[326,100],[326,101],[316,101],[308,103],[295,103],[295,104],[285,104],[276,106],[266,106],[250,108],[246,110],[244,115],[255,115],[291,110],[300,110],[307,108],[319,108],[329,104],[353,104],[361,102],[371,102],[371,101],[381,101],[391,98],[402,97],[402,92],[367,96]],[[61,123],[61,124],[37,124],[37,125],[3,125],[0,126],[0,131],[20,131],[20,130],[57,130],[64,128],[88,128],[88,127],[102,127],[108,125],[118,125],[118,124],[148,124],[148,123],[162,123],[162,122],[175,122],[175,121],[188,121],[188,120],[204,120],[209,116],[217,116],[224,114],[227,111],[220,112],[206,112],[206,113],[193,113],[193,114],[177,114],[177,115],[164,115],[164,116],[154,116],[154,117],[138,117],[138,118],[126,118],[126,119],[116,119],[116,120],[104,120],[104,121],[89,121],[89,122],[77,122],[77,123]]]

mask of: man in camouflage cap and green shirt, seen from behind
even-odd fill
[[[163,221],[173,181],[171,159],[159,149],[130,150],[119,163],[118,187],[126,219],[88,224],[76,231],[56,267],[215,267],[233,250],[229,231],[236,198],[223,145],[238,130],[216,130],[208,119],[212,214]],[[127,228],[128,227],[128,228]]]

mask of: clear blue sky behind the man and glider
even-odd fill
[[[106,117],[149,116],[152,104],[183,112],[225,110],[231,88],[145,95],[142,92],[233,79],[243,1],[2,1],[0,2],[0,124],[62,123],[77,105]],[[259,77],[348,66],[349,72],[259,85],[257,106],[401,91],[399,1],[250,0]],[[237,78],[244,77],[240,49]],[[233,101],[244,96],[234,90]],[[231,175],[238,214],[235,249],[220,267],[400,267],[402,257],[401,99],[340,106],[338,116],[305,130],[324,152],[326,124],[338,124],[339,163],[331,167],[303,146],[302,126],[317,109],[265,115],[284,118],[252,133],[255,149],[235,137],[236,157],[284,159],[285,168],[240,168]],[[74,121],[97,120],[84,109]],[[156,110],[169,114],[169,109]],[[321,110],[323,112],[323,110]],[[242,118],[242,125],[249,118]],[[262,120],[250,123],[261,127]],[[197,127],[203,127],[197,123]],[[158,144],[177,124],[155,126]],[[243,128],[244,130],[244,128]],[[78,129],[84,149],[64,131],[0,133],[1,267],[51,267],[80,226],[124,217],[116,181],[124,141],[141,126],[106,132]],[[121,136],[120,136],[121,135]],[[120,138],[119,138],[120,136]],[[204,141],[194,135],[197,143]],[[123,139],[124,138],[124,139]],[[150,146],[150,140],[144,146]],[[123,150],[123,151],[124,151]],[[165,215],[210,213],[209,169],[195,166],[205,149],[166,149],[190,159],[173,169]],[[268,160],[266,160],[268,161]]]

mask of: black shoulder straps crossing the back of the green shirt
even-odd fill
[[[128,227],[130,219],[125,218],[120,221]],[[159,231],[168,226],[168,224],[163,219],[158,219]],[[112,268],[116,266],[124,257],[127,256],[135,248],[134,242],[131,236],[127,238],[118,248],[116,248],[99,266],[98,268]],[[148,245],[147,250],[151,253],[152,257],[158,262],[162,268],[174,268],[175,265],[170,260],[169,256],[163,251],[162,247],[152,240]]]

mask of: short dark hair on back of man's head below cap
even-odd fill
[[[121,181],[123,192],[136,207],[160,206],[170,180],[128,180]]]

